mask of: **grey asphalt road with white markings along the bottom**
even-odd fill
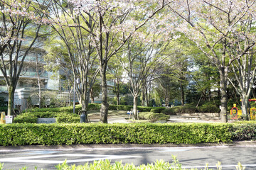
[[[94,160],[110,159],[112,162],[135,165],[164,159],[172,162],[176,155],[183,167],[216,167],[221,162],[223,169],[236,169],[238,162],[246,169],[256,169],[256,146],[213,146],[213,147],[120,147],[79,149],[1,149],[0,162],[4,169],[55,169],[55,165],[67,159],[68,164],[85,164]]]

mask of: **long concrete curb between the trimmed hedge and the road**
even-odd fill
[[[36,149],[104,149],[104,148],[154,148],[154,147],[256,147],[256,141],[237,141],[230,143],[202,143],[202,144],[109,144],[109,145],[26,145],[26,146],[0,146],[4,150],[36,150]]]

